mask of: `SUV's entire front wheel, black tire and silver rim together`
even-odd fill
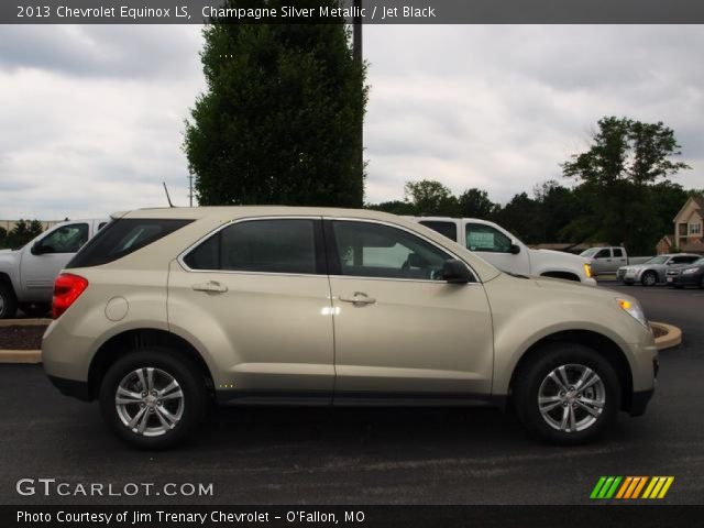
[[[518,418],[534,435],[574,444],[597,436],[620,407],[613,366],[580,344],[546,346],[519,373],[513,393]]]

